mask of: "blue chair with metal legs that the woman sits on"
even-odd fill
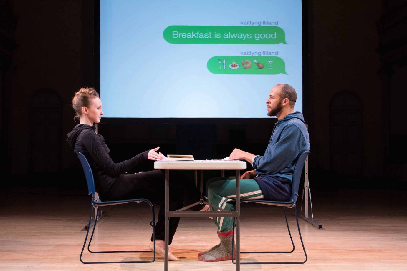
[[[95,183],[94,183],[94,179],[93,179],[93,174],[92,174],[92,169],[90,168],[90,165],[88,163],[88,160],[86,160],[86,157],[80,153],[79,151],[77,152],[77,155],[79,157],[79,161],[82,164],[82,168],[83,171],[85,172],[85,177],[86,177],[86,182],[88,183],[88,195],[92,194],[92,202],[91,202],[91,207],[90,207],[90,216],[89,216],[89,223],[88,223],[88,230],[86,231],[86,236],[85,236],[85,241],[83,242],[83,247],[82,247],[82,251],[81,251],[81,256],[79,256],[79,260],[81,260],[82,263],[84,264],[93,264],[93,263],[135,263],[135,262],[154,262],[155,261],[155,216],[154,216],[154,205],[153,203],[151,203],[151,201],[149,201],[148,199],[129,199],[129,200],[120,200],[120,201],[100,201],[100,200],[96,200],[95,198]],[[136,253],[136,252],[149,252],[149,253],[153,253],[153,260],[149,260],[149,261],[121,261],[121,262],[84,262],[82,260],[82,254],[83,254],[83,249],[85,249],[85,245],[86,245],[86,240],[88,239],[88,234],[89,234],[89,228],[90,228],[90,223],[92,221],[92,213],[93,213],[93,208],[96,208],[98,206],[107,206],[107,205],[116,205],[116,204],[123,204],[123,203],[130,203],[130,202],[147,202],[150,205],[151,208],[151,214],[152,214],[152,221],[150,223],[151,227],[153,227],[153,243],[154,243],[154,251],[140,251],[140,250],[136,250],[136,251],[92,251],[90,250],[90,243],[92,242],[92,237],[93,234],[95,232],[95,227],[96,227],[96,223],[98,221],[97,217],[99,214],[99,209],[97,208],[97,212],[96,212],[96,219],[95,219],[95,223],[93,225],[93,230],[92,230],[92,234],[90,236],[90,240],[89,240],[89,244],[88,244],[88,251],[90,253],[125,253],[125,252],[130,252],[130,253]]]

